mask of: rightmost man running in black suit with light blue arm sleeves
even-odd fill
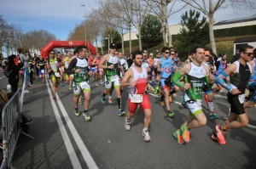
[[[224,124],[217,124],[212,139],[219,144],[226,144],[224,135],[231,128],[246,127],[248,125],[248,116],[243,108],[245,100],[245,90],[250,76],[253,76],[253,69],[247,62],[253,58],[253,47],[243,45],[240,48],[240,59],[232,65],[220,72],[216,82],[226,88],[228,93],[228,101],[230,103],[230,116]],[[230,76],[230,86],[224,82],[224,79]]]

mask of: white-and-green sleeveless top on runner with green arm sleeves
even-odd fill
[[[205,77],[207,76],[207,70],[203,65],[195,65],[193,62],[190,63],[191,68],[189,73],[184,78],[184,82],[190,83],[191,88],[186,90],[186,94],[189,99],[201,100],[201,92],[204,87]]]

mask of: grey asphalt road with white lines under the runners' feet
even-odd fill
[[[0,78],[2,76],[0,71]],[[6,78],[0,80],[1,88],[6,81]],[[253,126],[230,130],[227,144],[217,144],[210,138],[212,128],[223,123],[228,115],[229,104],[225,96],[215,99],[215,112],[219,118],[207,121],[205,127],[192,129],[191,141],[185,145],[177,144],[172,132],[187,119],[189,111],[180,104],[172,103],[171,109],[176,115],[168,118],[165,109],[160,107],[160,99],[150,96],[153,114],[149,134],[152,141],[145,143],[142,136],[143,111],[138,110],[132,118],[131,131],[126,131],[125,117],[117,115],[115,96],[113,104],[102,105],[100,102],[99,94],[103,87],[95,87],[95,83],[91,83],[92,121],[85,121],[83,115],[73,114],[73,93],[67,85],[59,87],[59,99],[54,102],[49,98],[47,85],[39,80],[35,83],[26,93],[27,104],[23,107],[24,115],[33,119],[28,133],[34,139],[20,135],[13,159],[16,168],[256,167],[255,108],[248,110]],[[179,102],[182,94],[182,91],[178,92],[174,101]],[[127,92],[123,93],[122,104],[127,110]],[[79,105],[79,110],[83,110],[83,105]]]

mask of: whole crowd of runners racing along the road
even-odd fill
[[[131,130],[131,117],[137,112],[140,105],[144,111],[144,141],[151,140],[148,127],[151,121],[151,104],[148,98],[148,91],[159,93],[160,104],[166,106],[166,115],[173,117],[175,114],[171,110],[170,98],[178,90],[184,90],[182,104],[189,110],[189,119],[181,127],[173,132],[172,136],[177,139],[178,144],[189,143],[189,131],[195,127],[202,127],[207,124],[207,117],[202,111],[202,93],[205,93],[209,110],[209,119],[216,119],[214,114],[213,99],[221,87],[229,91],[228,100],[230,102],[230,117],[222,125],[216,125],[212,132],[212,139],[219,144],[225,144],[224,135],[230,128],[245,127],[248,124],[246,108],[253,107],[256,103],[255,93],[255,59],[253,59],[253,47],[242,46],[241,57],[230,66],[226,64],[226,55],[223,54],[214,65],[209,61],[211,53],[203,47],[197,47],[192,51],[188,62],[179,67],[177,52],[173,48],[162,48],[161,52],[149,54],[146,50],[135,51],[129,59],[124,58],[124,54],[117,52],[116,45],[111,43],[109,54],[101,57],[96,54],[90,57],[86,47],[77,48],[73,56],[67,53],[64,59],[55,56],[55,51],[49,53],[46,61],[49,79],[52,82],[53,99],[56,99],[55,92],[58,88],[58,81],[65,78],[69,81],[69,87],[73,90],[74,114],[80,115],[78,104],[81,100],[81,93],[84,93],[84,119],[90,121],[90,77],[94,77],[96,86],[104,82],[104,90],[100,99],[102,104],[106,104],[107,95],[109,103],[112,103],[112,93],[115,92],[118,103],[118,115],[125,116],[125,129]],[[131,59],[133,64],[131,65]],[[39,75],[44,80],[44,60],[38,61]],[[41,67],[42,66],[42,67]],[[61,67],[64,67],[61,72]],[[179,68],[178,68],[179,67]],[[178,69],[177,69],[178,68]],[[43,71],[42,71],[43,70]],[[67,76],[64,77],[64,73]],[[230,85],[224,79],[230,76]],[[159,85],[156,84],[159,80]],[[213,86],[213,84],[216,83]],[[121,98],[125,87],[129,88],[128,111],[122,109]],[[246,87],[250,87],[252,97],[245,104],[244,93]]]

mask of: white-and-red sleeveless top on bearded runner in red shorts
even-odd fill
[[[133,79],[131,82],[136,81],[135,87],[130,87],[131,94],[143,94],[147,90],[147,77],[148,73],[145,68],[142,67],[143,72],[138,72],[133,66],[130,68],[133,71]]]

